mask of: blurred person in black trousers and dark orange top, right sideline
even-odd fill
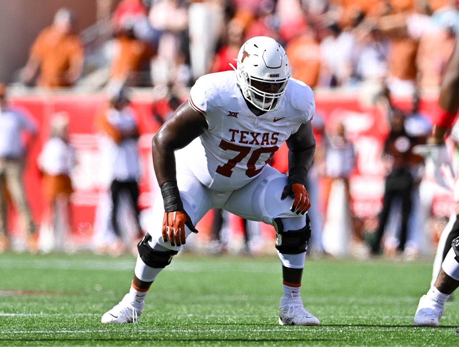
[[[402,201],[402,220],[397,247],[399,252],[403,252],[407,240],[408,220],[412,208],[412,190],[414,188],[414,177],[411,173],[411,168],[413,165],[419,164],[422,159],[413,154],[412,149],[416,141],[407,134],[403,122],[403,112],[395,110],[391,119],[391,131],[383,148],[383,155],[386,157],[390,172],[386,176],[379,226],[376,230],[375,241],[371,246],[374,254],[379,253],[389,212],[397,198]]]

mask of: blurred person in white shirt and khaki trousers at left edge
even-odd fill
[[[37,246],[35,226],[22,182],[27,146],[24,146],[21,139],[24,131],[35,136],[37,128],[22,113],[8,106],[5,89],[5,85],[0,84],[0,180],[5,183],[21,218],[22,227],[28,237],[28,249],[35,252]],[[33,139],[30,139],[28,144],[32,141]],[[0,252],[9,246],[7,222],[7,199],[2,194],[0,196]]]

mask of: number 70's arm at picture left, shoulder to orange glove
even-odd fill
[[[174,151],[190,144],[206,129],[204,116],[186,101],[162,125],[152,140],[153,166],[164,201],[162,238],[164,242],[170,241],[173,246],[185,243],[185,224],[197,233],[180,198]]]

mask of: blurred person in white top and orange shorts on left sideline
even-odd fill
[[[68,140],[68,121],[66,112],[53,116],[50,139],[38,158],[45,196],[39,235],[39,248],[43,252],[62,251],[64,241],[72,230],[70,172],[75,166],[75,152]]]

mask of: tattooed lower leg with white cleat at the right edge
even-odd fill
[[[442,263],[442,269],[435,284],[419,301],[413,325],[439,326],[448,296],[459,287],[459,238],[454,239],[452,247]]]

